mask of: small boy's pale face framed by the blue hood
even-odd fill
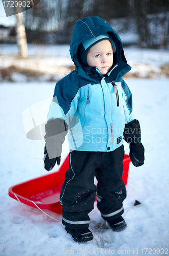
[[[102,75],[107,74],[113,62],[110,41],[103,40],[91,47],[87,53],[87,62],[90,67],[97,67]]]

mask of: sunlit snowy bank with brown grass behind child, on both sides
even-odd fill
[[[132,47],[125,48],[124,51],[126,59],[132,67],[128,76],[169,78],[169,50]],[[15,68],[10,71],[10,79],[14,82],[56,81],[74,69],[68,45],[37,46],[29,44],[28,52],[29,56],[26,59],[20,59],[17,45],[0,45],[0,81],[9,81],[9,76],[3,77],[4,73],[1,72],[2,69],[9,67]]]

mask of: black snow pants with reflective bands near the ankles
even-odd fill
[[[89,212],[95,198],[105,220],[120,217],[126,188],[122,181],[124,146],[112,152],[72,151],[60,201],[63,206],[62,223],[72,229],[88,228]],[[94,184],[94,177],[98,181]]]

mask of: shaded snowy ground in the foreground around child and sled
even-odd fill
[[[140,55],[142,55],[140,53]],[[61,256],[64,254],[168,254],[169,247],[169,174],[168,109],[169,80],[126,79],[132,94],[135,117],[142,127],[145,164],[130,164],[124,218],[127,228],[119,233],[110,229],[93,231],[94,240],[76,243],[61,222],[39,210],[31,211],[8,196],[10,186],[45,175],[43,141],[26,138],[23,111],[53,95],[54,82],[1,83],[1,154],[0,154],[0,255]],[[125,144],[126,153],[128,145]],[[67,156],[64,145],[62,161]],[[37,159],[39,158],[39,159]],[[54,172],[57,170],[54,167]],[[138,200],[142,206],[131,208]],[[47,212],[61,220],[61,215]],[[95,205],[90,214],[91,228],[101,225]],[[94,224],[95,223],[95,224]],[[148,248],[145,249],[145,248]],[[143,249],[143,250],[142,250]],[[133,251],[134,250],[134,251]]]

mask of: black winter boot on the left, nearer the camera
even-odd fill
[[[70,233],[76,242],[88,242],[93,239],[93,234],[89,228],[85,229],[71,229],[65,227],[66,231]]]

